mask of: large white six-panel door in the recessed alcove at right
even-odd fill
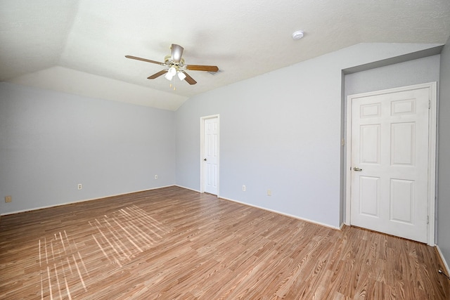
[[[351,224],[428,242],[430,89],[349,98]]]

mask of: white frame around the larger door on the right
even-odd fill
[[[428,244],[435,246],[435,193],[436,193],[436,117],[437,117],[437,83],[414,84],[394,89],[385,89],[368,93],[347,96],[347,142],[346,146],[346,188],[345,188],[345,224],[351,224],[351,196],[352,196],[352,100],[365,96],[375,96],[383,93],[395,93],[411,89],[429,89],[430,110],[428,110]]]

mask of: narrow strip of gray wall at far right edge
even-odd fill
[[[450,263],[450,39],[441,53],[438,159],[437,244]]]

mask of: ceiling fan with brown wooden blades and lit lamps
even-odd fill
[[[164,58],[164,63],[160,63],[155,60],[149,60],[147,58],[138,58],[136,56],[125,56],[125,57],[134,60],[142,60],[147,63],[155,63],[157,65],[162,65],[163,67],[166,67],[165,70],[161,70],[160,72],[157,72],[147,77],[147,79],[155,79],[160,77],[162,74],[165,74],[166,79],[172,80],[172,78],[175,75],[178,75],[180,80],[186,79],[186,81],[188,81],[188,84],[196,84],[197,81],[195,81],[191,76],[189,76],[189,74],[186,73],[185,70],[207,71],[207,72],[219,71],[219,68],[215,65],[185,65],[184,58],[181,58],[184,48],[176,44],[172,44],[172,47],[170,48],[172,50],[172,53]]]

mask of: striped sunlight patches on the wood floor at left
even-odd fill
[[[136,205],[89,221],[92,230],[70,237],[66,230],[38,242],[41,299],[68,298],[86,292],[98,281],[89,270],[122,268],[149,249],[168,228]],[[96,263],[86,266],[84,258]],[[70,287],[70,288],[69,288]]]

